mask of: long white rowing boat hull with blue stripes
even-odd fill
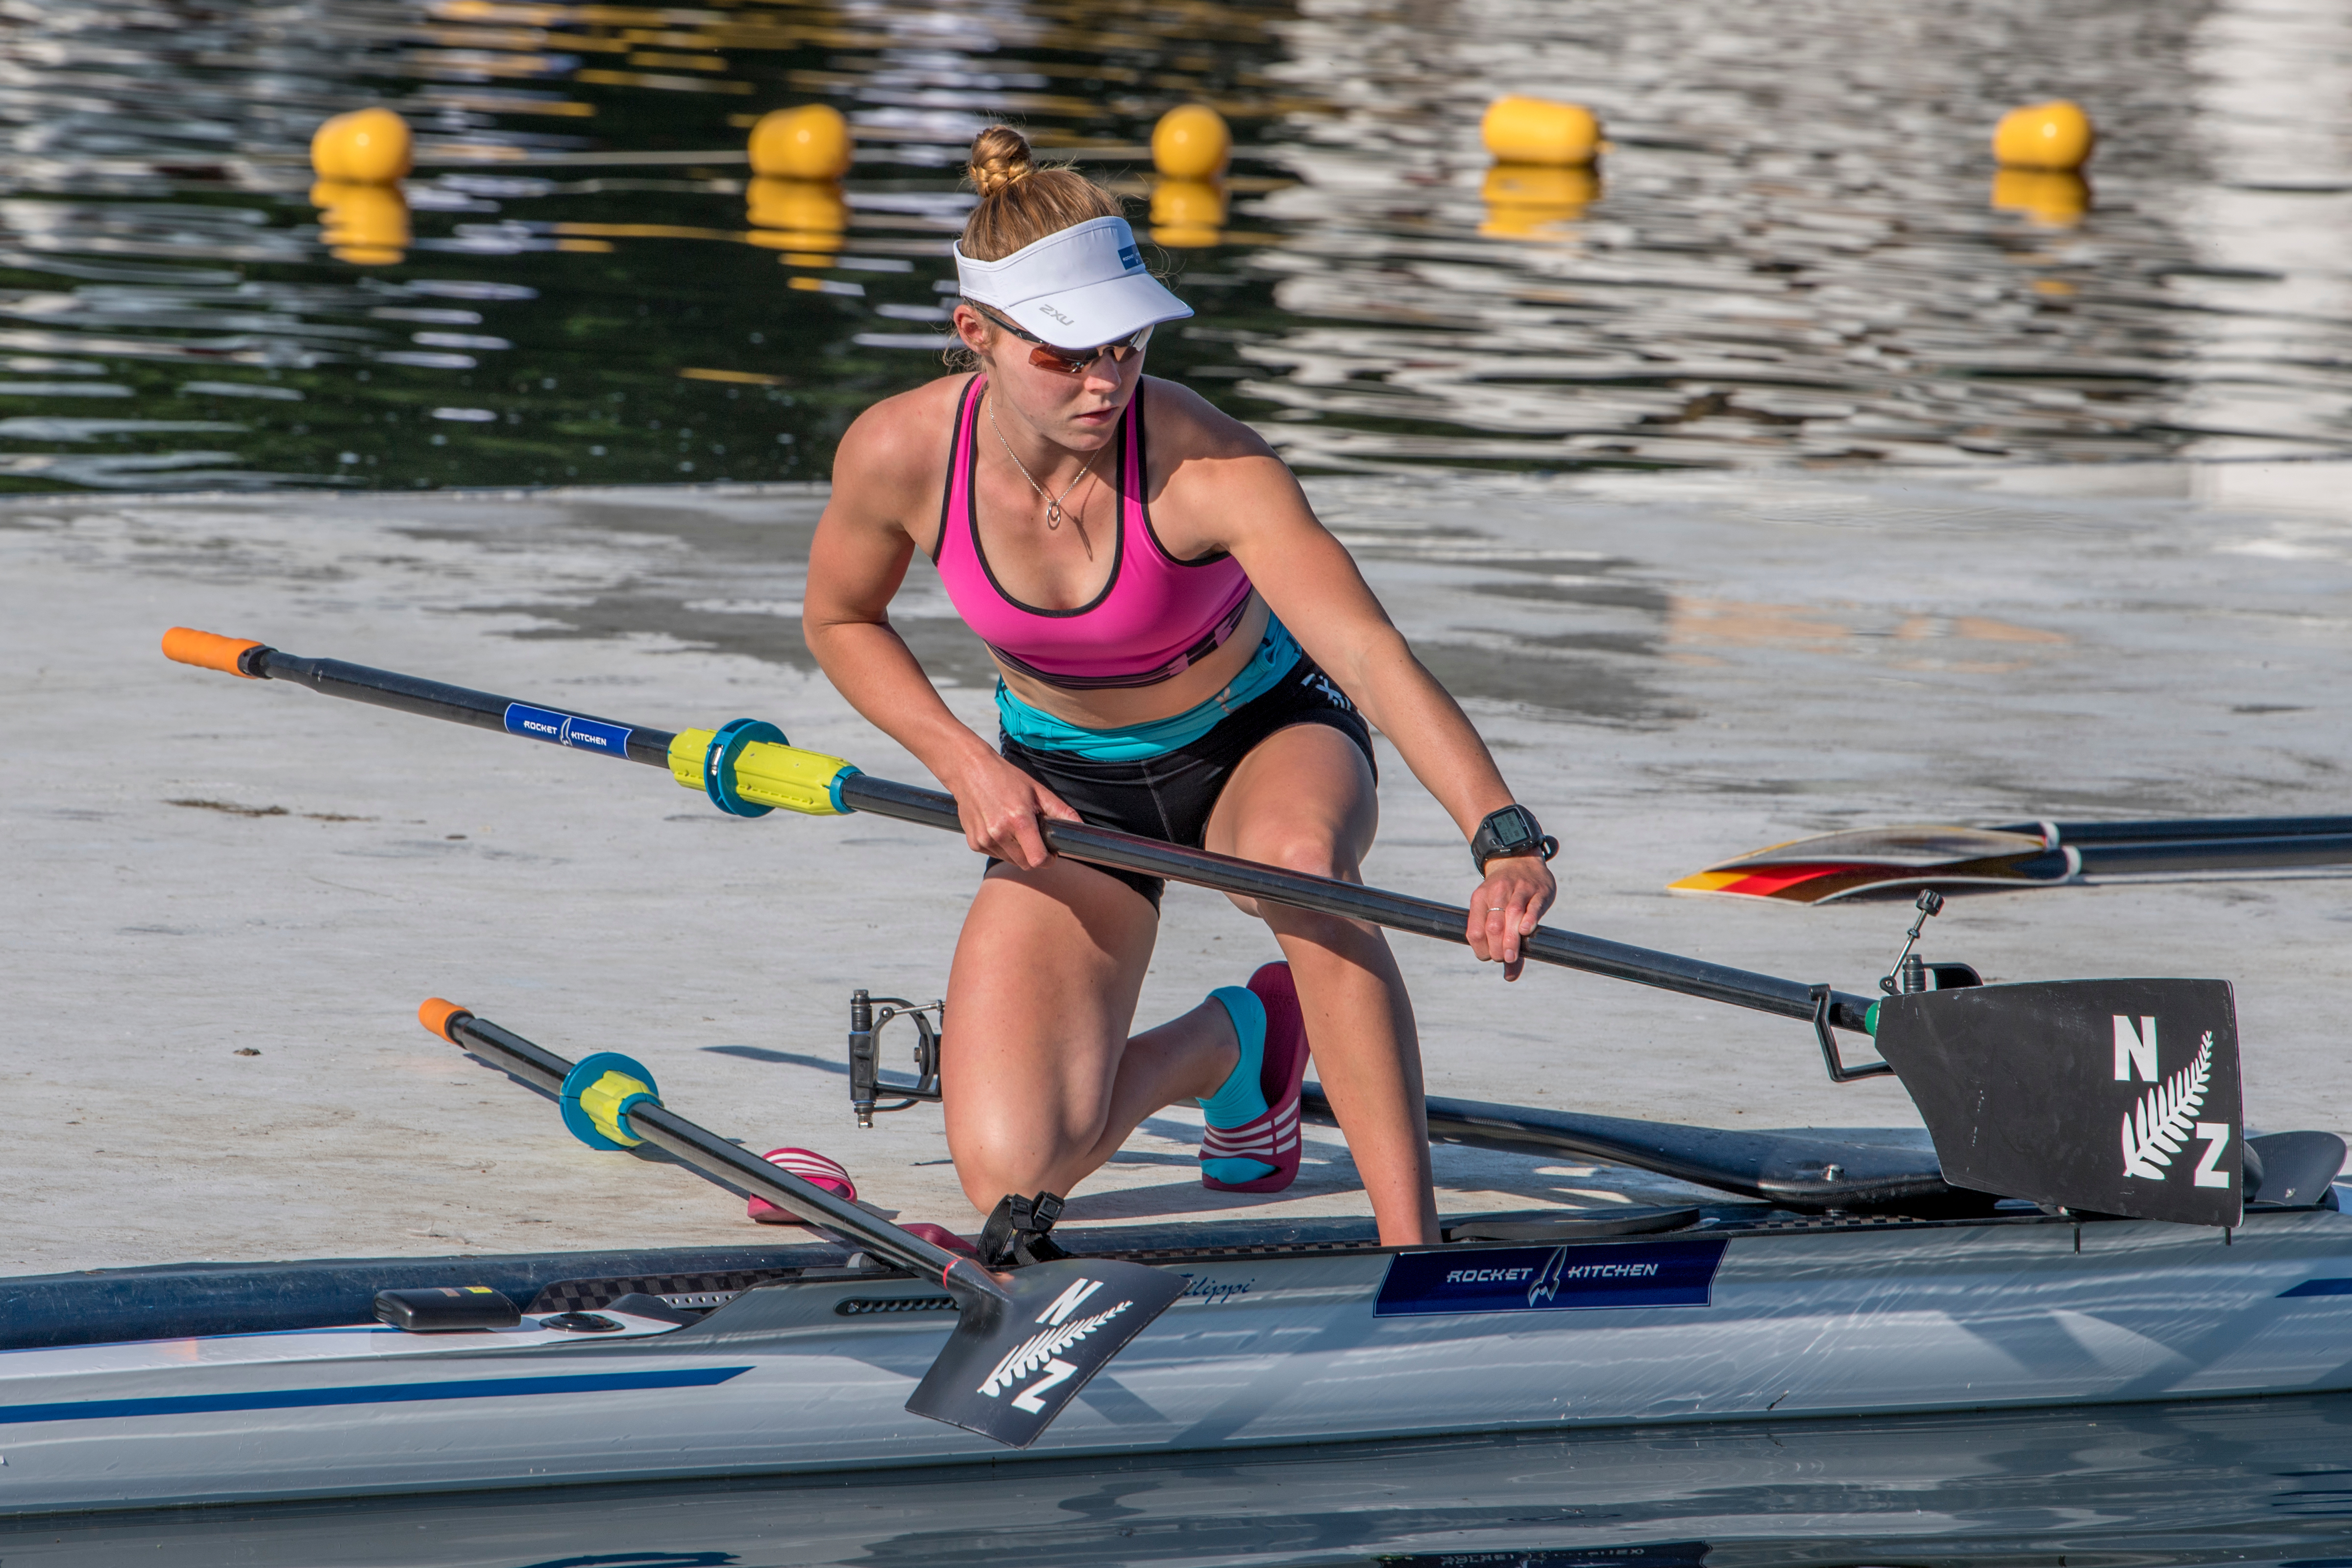
[[[1025,1453],[2352,1389],[2336,1211],[2251,1213],[2234,1234],[1783,1222],[1167,1267],[1185,1298]],[[1007,1458],[903,1410],[950,1316],[889,1305],[934,1291],[826,1274],[621,1338],[315,1328],[0,1352],[0,1512]]]

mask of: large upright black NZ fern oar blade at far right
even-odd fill
[[[2237,1225],[2244,1119],[2227,980],[2046,980],[1891,997],[1893,1063],[1959,1187]]]

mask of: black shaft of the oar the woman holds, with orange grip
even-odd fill
[[[903,823],[962,832],[953,795],[873,778],[840,757],[788,745],[783,731],[757,719],[736,719],[715,731],[684,729],[670,733],[640,729],[560,708],[536,708],[487,691],[468,691],[466,686],[445,686],[442,682],[416,679],[414,675],[348,665],[336,658],[299,658],[259,642],[216,637],[188,628],[165,632],[162,651],[179,663],[226,670],[247,679],[299,682],[327,696],[419,712],[430,719],[454,719],[477,729],[503,729],[532,741],[550,741],[604,757],[666,766],[677,783],[689,790],[703,790],[710,804],[734,816],[764,816],[774,806],[809,816],[870,811]],[[1242,898],[1265,898],[1392,931],[1435,936],[1446,943],[1468,943],[1465,926],[1470,912],[1432,898],[1411,898],[1355,882],[1287,872],[1258,865],[1256,860],[1162,844],[1160,839],[1143,839],[1110,827],[1089,827],[1084,823],[1047,820],[1042,830],[1047,846],[1073,860],[1190,882]],[[1844,1081],[1849,1077],[1886,1072],[1879,1065],[1844,1067],[1830,1039],[1830,1027],[1860,1034],[1872,1032],[1875,1001],[1870,997],[1686,959],[1672,952],[1630,947],[1597,936],[1559,931],[1557,926],[1538,926],[1534,936],[1519,943],[1519,952],[1538,964],[1559,964],[1562,969],[1656,985],[1686,997],[1729,1001],[1731,1006],[1759,1013],[1802,1018],[1816,1027],[1832,1079]]]

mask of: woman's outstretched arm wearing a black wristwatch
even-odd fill
[[[1468,715],[1414,658],[1355,557],[1315,520],[1282,458],[1247,425],[1190,393],[1169,390],[1174,397],[1152,388],[1152,414],[1178,414],[1167,423],[1181,425],[1185,451],[1171,468],[1162,510],[1216,520],[1218,534],[1169,541],[1169,548],[1178,555],[1232,550],[1298,646],[1395,743],[1404,766],[1437,797],[1463,837],[1475,835],[1489,811],[1512,804],[1512,792]],[[1517,976],[1517,938],[1536,929],[1552,896],[1552,875],[1534,856],[1489,860],[1479,898],[1472,900],[1472,950],[1482,959],[1501,959]]]

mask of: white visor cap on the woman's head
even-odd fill
[[[974,261],[957,244],[955,284],[1054,348],[1115,343],[1192,315],[1145,270],[1127,219],[1087,219],[1004,261]]]

